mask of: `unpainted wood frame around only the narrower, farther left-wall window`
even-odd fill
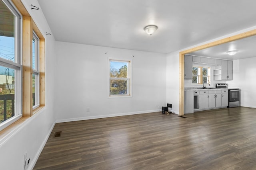
[[[39,107],[33,109],[32,36],[39,38]],[[32,116],[45,106],[45,39],[30,16],[23,16],[23,117]]]

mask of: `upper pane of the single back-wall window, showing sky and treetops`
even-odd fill
[[[110,61],[110,77],[127,78],[128,63]]]

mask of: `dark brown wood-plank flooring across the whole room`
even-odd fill
[[[185,116],[56,123],[34,170],[256,170],[256,109]]]

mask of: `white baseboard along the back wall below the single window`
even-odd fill
[[[87,117],[77,117],[77,118],[70,118],[70,119],[57,119],[56,123],[63,123],[63,122],[69,122],[69,121],[80,121],[80,120],[90,120],[90,119],[100,119],[100,118],[106,118],[106,117],[116,117],[116,116],[125,116],[125,115],[136,115],[136,114],[142,114],[142,113],[152,113],[152,112],[158,112],[159,110],[146,110],[146,111],[136,111],[136,112],[129,112],[129,113],[118,113],[118,114],[110,114],[110,115],[97,115],[97,116],[87,116]]]

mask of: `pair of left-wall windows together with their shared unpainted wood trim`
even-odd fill
[[[0,13],[1,131],[45,106],[45,39],[20,0],[0,0]]]

